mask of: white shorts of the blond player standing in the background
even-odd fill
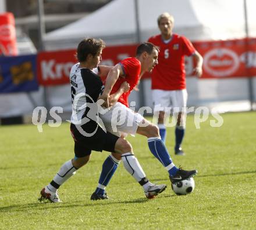
[[[154,103],[154,111],[186,111],[187,107],[187,90],[160,90],[153,89],[152,97]]]

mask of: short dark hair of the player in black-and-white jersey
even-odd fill
[[[99,49],[103,48],[105,48],[105,42],[102,39],[85,38],[77,46],[77,60],[86,61],[88,54],[95,56]]]

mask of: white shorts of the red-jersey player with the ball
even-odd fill
[[[137,132],[138,124],[143,121],[143,116],[117,102],[105,114],[99,114],[106,130],[118,137],[127,134],[134,135]]]

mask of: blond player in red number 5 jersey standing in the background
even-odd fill
[[[186,128],[186,73],[184,56],[195,57],[194,74],[202,75],[202,56],[195,50],[189,39],[173,34],[174,19],[169,13],[158,17],[161,34],[152,36],[148,42],[160,48],[158,65],[152,71],[152,97],[155,111],[159,111],[158,127],[162,140],[165,142],[166,127],[164,116],[166,108],[172,106],[177,118],[175,129],[175,154],[184,155],[181,144]],[[170,111],[170,110],[169,110]]]

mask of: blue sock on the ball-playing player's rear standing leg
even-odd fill
[[[96,194],[104,195],[105,187],[106,185],[108,185],[109,181],[111,180],[113,174],[118,168],[119,163],[120,163],[120,160],[115,159],[112,155],[109,155],[105,159],[102,165],[101,176],[99,176],[99,184],[95,190]]]

